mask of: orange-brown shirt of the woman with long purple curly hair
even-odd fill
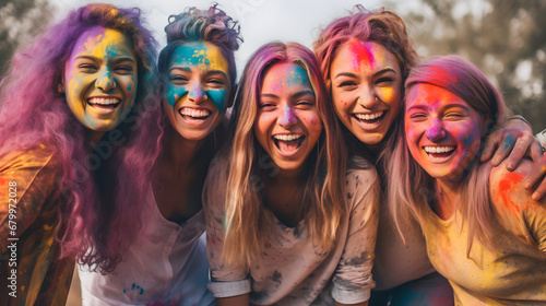
[[[55,239],[59,173],[50,145],[0,160],[0,305],[66,304],[74,262]]]

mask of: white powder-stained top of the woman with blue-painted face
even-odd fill
[[[142,228],[116,270],[102,275],[79,266],[83,305],[215,305],[203,211],[182,224],[166,220],[151,185],[143,201]]]

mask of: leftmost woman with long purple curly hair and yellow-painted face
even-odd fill
[[[74,260],[119,261],[110,213],[134,198],[115,197],[111,177],[149,125],[154,47],[138,9],[90,4],[14,55],[0,96],[0,304],[63,305]]]

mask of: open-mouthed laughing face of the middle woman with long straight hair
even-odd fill
[[[322,120],[306,69],[295,63],[271,67],[258,98],[254,134],[283,170],[300,170],[317,144]]]

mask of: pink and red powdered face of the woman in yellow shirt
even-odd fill
[[[410,89],[404,121],[410,152],[437,179],[460,178],[485,136],[484,119],[474,108],[451,92],[426,83]]]

